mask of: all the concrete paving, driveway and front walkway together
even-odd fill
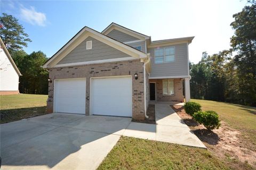
[[[121,135],[205,148],[169,105],[156,124],[54,113],[1,125],[1,169],[96,169]]]

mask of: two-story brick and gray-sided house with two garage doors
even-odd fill
[[[49,71],[47,112],[143,120],[149,100],[189,101],[193,38],[151,41],[116,23],[102,32],[84,27],[43,65]]]

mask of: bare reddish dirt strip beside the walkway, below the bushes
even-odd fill
[[[243,140],[242,132],[230,128],[223,121],[219,129],[206,130],[185,112],[183,106],[171,107],[214,155],[236,169],[244,169],[247,163],[252,167],[246,169],[256,168],[256,152],[250,147],[253,144]]]

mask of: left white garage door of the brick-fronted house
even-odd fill
[[[55,112],[85,114],[85,79],[55,80]]]

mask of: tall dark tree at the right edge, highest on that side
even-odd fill
[[[256,3],[233,15],[230,25],[235,30],[230,44],[237,52],[234,64],[237,67],[239,100],[246,105],[256,105]]]

